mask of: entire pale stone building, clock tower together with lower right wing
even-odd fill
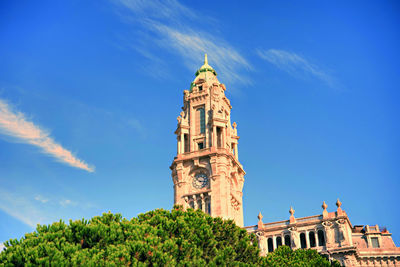
[[[212,216],[232,219],[243,227],[244,175],[239,163],[237,125],[231,124],[231,105],[225,85],[208,65],[196,72],[190,90],[183,91],[183,107],[175,131],[177,155],[170,167],[174,203],[202,209]],[[322,215],[244,227],[256,234],[263,255],[280,245],[292,249],[313,248],[343,266],[400,266],[400,248],[391,234],[376,226],[350,223],[342,203],[336,212],[322,204]]]

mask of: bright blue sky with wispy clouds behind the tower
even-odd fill
[[[397,1],[2,1],[0,242],[170,209],[207,53],[238,124],[245,225],[342,208],[400,241]]]

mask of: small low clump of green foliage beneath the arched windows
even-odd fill
[[[287,246],[278,247],[273,253],[268,253],[266,257],[263,257],[261,262],[263,266],[341,266],[337,261],[329,263],[327,259],[318,254],[314,249],[291,250]]]

